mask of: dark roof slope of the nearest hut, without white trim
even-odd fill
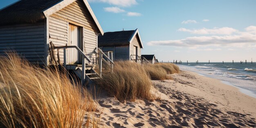
[[[35,23],[45,19],[43,11],[63,0],[20,0],[0,10],[0,25]]]

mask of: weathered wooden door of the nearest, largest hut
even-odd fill
[[[81,29],[75,25],[69,25],[69,46],[77,46],[81,49]],[[81,49],[82,50],[82,49]],[[81,64],[81,55],[76,48],[67,50],[67,62],[68,64]]]

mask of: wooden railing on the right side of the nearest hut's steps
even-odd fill
[[[113,72],[113,67],[114,67],[114,62],[113,62],[113,52],[108,52],[108,56],[102,52],[101,49],[98,48],[98,52],[97,54],[99,54],[99,73],[100,73],[100,77],[101,77],[101,74],[102,74],[102,62],[106,62],[108,63],[108,65],[110,66],[110,70],[111,72]],[[111,59],[109,58],[111,56]],[[103,56],[107,59],[107,61],[103,58]]]

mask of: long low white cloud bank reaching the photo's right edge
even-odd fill
[[[164,46],[179,46],[179,47],[255,47],[256,34],[252,33],[256,27],[247,27],[247,31],[237,32],[236,35],[227,36],[193,36],[180,40],[159,40],[150,41],[148,45],[164,45]]]

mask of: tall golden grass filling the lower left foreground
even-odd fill
[[[79,128],[85,111],[95,109],[91,95],[66,74],[35,67],[15,54],[0,58],[1,127]]]

